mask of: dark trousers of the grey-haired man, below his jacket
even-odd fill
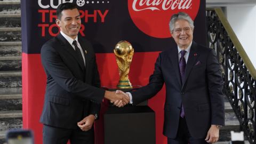
[[[167,138],[167,143],[168,144],[187,144],[187,143],[203,144],[203,143],[207,143],[207,142],[205,141],[205,139],[193,138],[188,130],[186,118],[180,117],[177,136],[175,139]]]

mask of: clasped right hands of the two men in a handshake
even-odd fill
[[[122,103],[121,106],[125,106],[126,104],[128,104],[130,102],[130,98],[126,97],[124,94],[116,93],[116,92],[110,92],[110,91],[106,91],[105,92],[104,98],[108,99],[108,100],[110,100],[112,102],[113,101],[115,101],[115,102],[118,101],[119,103]]]

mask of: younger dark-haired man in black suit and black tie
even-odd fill
[[[46,42],[41,50],[47,81],[44,108],[40,118],[43,143],[94,144],[93,123],[98,119],[103,98],[122,100],[122,94],[100,89],[100,77],[93,47],[78,37],[81,19],[73,3],[57,8],[60,34]]]

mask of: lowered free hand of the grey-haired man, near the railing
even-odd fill
[[[217,125],[212,125],[210,127],[210,130],[207,133],[206,142],[208,143],[216,143],[219,139],[219,130],[220,127],[217,127]]]

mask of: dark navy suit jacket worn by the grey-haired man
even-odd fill
[[[198,61],[199,65],[195,65]],[[154,97],[165,83],[163,134],[174,139],[177,135],[181,102],[191,136],[205,139],[211,125],[225,125],[223,81],[215,51],[192,43],[181,84],[178,48],[159,53],[149,84],[131,92],[133,103]]]

